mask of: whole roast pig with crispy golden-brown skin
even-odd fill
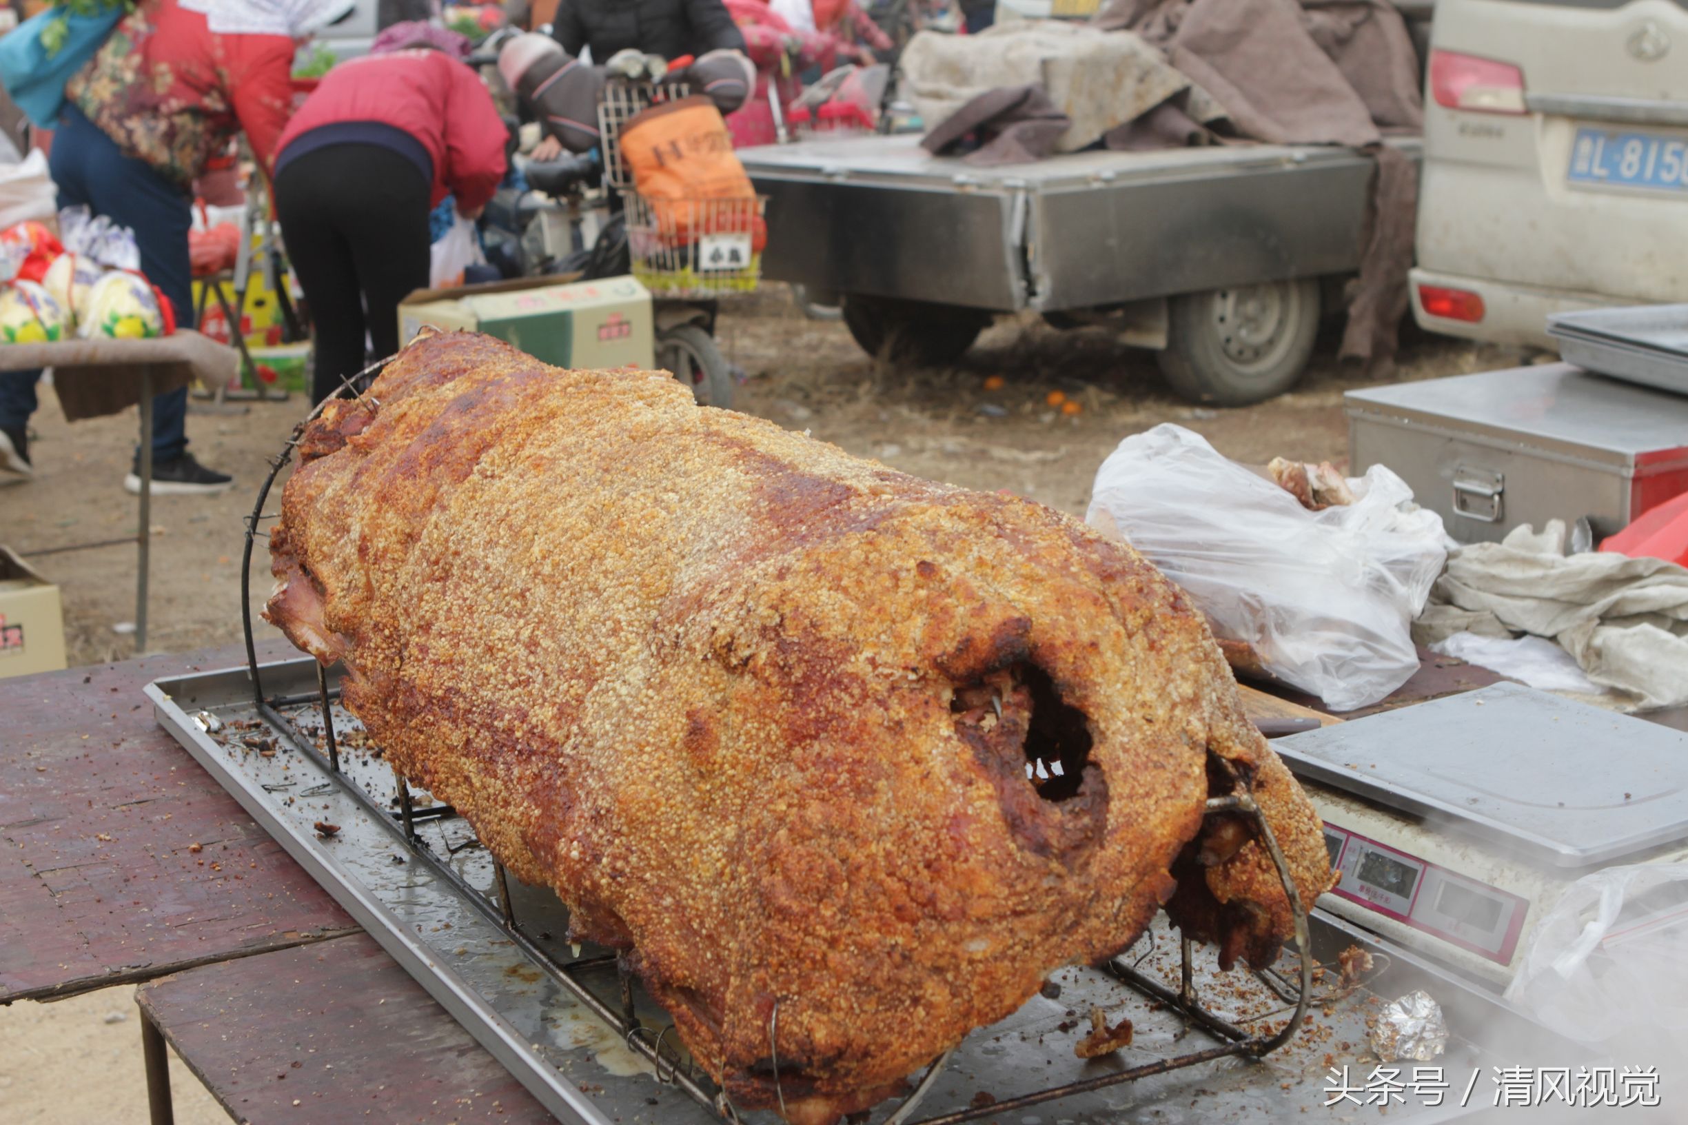
[[[895,1095],[1173,899],[1290,932],[1318,819],[1128,546],[699,409],[662,373],[425,336],[300,444],[267,617],[395,769],[625,951],[739,1106]],[[1028,777],[1028,765],[1031,777]],[[770,1025],[778,1005],[778,1090]]]

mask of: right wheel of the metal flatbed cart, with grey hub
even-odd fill
[[[1318,336],[1318,279],[1214,289],[1171,299],[1160,368],[1192,402],[1237,407],[1301,378]]]

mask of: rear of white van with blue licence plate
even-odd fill
[[[1688,0],[1442,0],[1413,314],[1553,350],[1551,312],[1688,301]]]

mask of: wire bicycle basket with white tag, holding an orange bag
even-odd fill
[[[647,199],[626,191],[621,199],[633,277],[653,294],[707,297],[756,289],[766,196]]]

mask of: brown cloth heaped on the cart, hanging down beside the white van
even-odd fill
[[[1163,47],[1241,137],[1352,145],[1376,157],[1342,355],[1386,375],[1406,314],[1418,176],[1382,135],[1423,127],[1416,56],[1399,12],[1382,0],[1111,0],[1096,25]]]

